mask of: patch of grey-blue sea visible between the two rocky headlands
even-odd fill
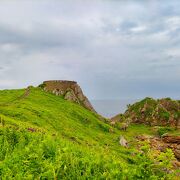
[[[119,99],[119,100],[91,100],[95,110],[104,117],[110,118],[119,113],[124,113],[128,104],[133,104],[138,100]]]

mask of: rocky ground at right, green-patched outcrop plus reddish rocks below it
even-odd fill
[[[128,105],[124,114],[118,114],[110,120],[110,124],[120,130],[127,130],[131,124],[149,126],[154,133],[152,135],[138,135],[134,141],[149,142],[151,148],[159,153],[165,152],[167,148],[171,149],[176,158],[174,166],[180,168],[179,101],[170,98],[159,100],[145,98],[140,102]]]

